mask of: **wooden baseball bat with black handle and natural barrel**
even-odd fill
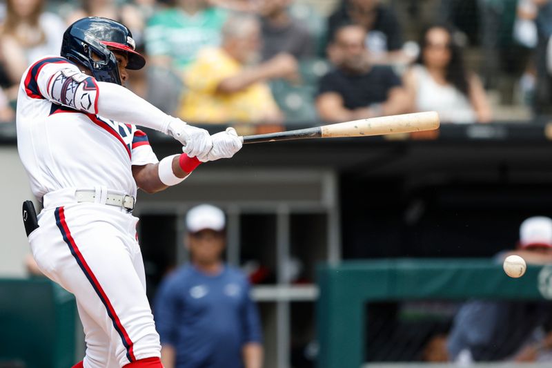
[[[420,132],[439,128],[439,115],[435,111],[372,117],[351,122],[328,124],[315,128],[287,130],[285,132],[245,135],[244,144],[286,141],[290,139],[366,137],[395,133]]]

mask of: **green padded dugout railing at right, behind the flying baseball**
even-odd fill
[[[501,264],[480,259],[351,261],[321,265],[317,277],[319,368],[362,367],[368,302],[552,298],[552,266],[531,266],[513,279]]]

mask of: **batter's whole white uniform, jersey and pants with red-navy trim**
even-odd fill
[[[161,111],[130,92],[127,100],[113,98],[126,92],[63,57],[46,57],[25,72],[17,100],[19,156],[34,195],[48,197],[29,243],[41,271],[75,294],[86,334],[84,368],[159,362],[161,350],[146,298],[137,217],[121,206],[75,201],[79,188],[101,188],[97,198],[106,191],[136,195],[132,165],[157,162],[145,133],[98,116],[98,105],[115,119],[133,106],[137,117],[162,122],[148,126],[164,131]]]

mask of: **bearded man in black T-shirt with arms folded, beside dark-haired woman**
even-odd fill
[[[361,26],[344,26],[331,43],[337,68],[320,80],[316,106],[326,122],[346,122],[406,112],[401,80],[388,66],[373,66]]]

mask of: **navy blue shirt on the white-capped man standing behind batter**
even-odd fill
[[[225,266],[218,275],[193,265],[170,274],[155,298],[161,345],[177,351],[177,368],[242,368],[242,347],[261,342],[257,307],[245,275]]]

